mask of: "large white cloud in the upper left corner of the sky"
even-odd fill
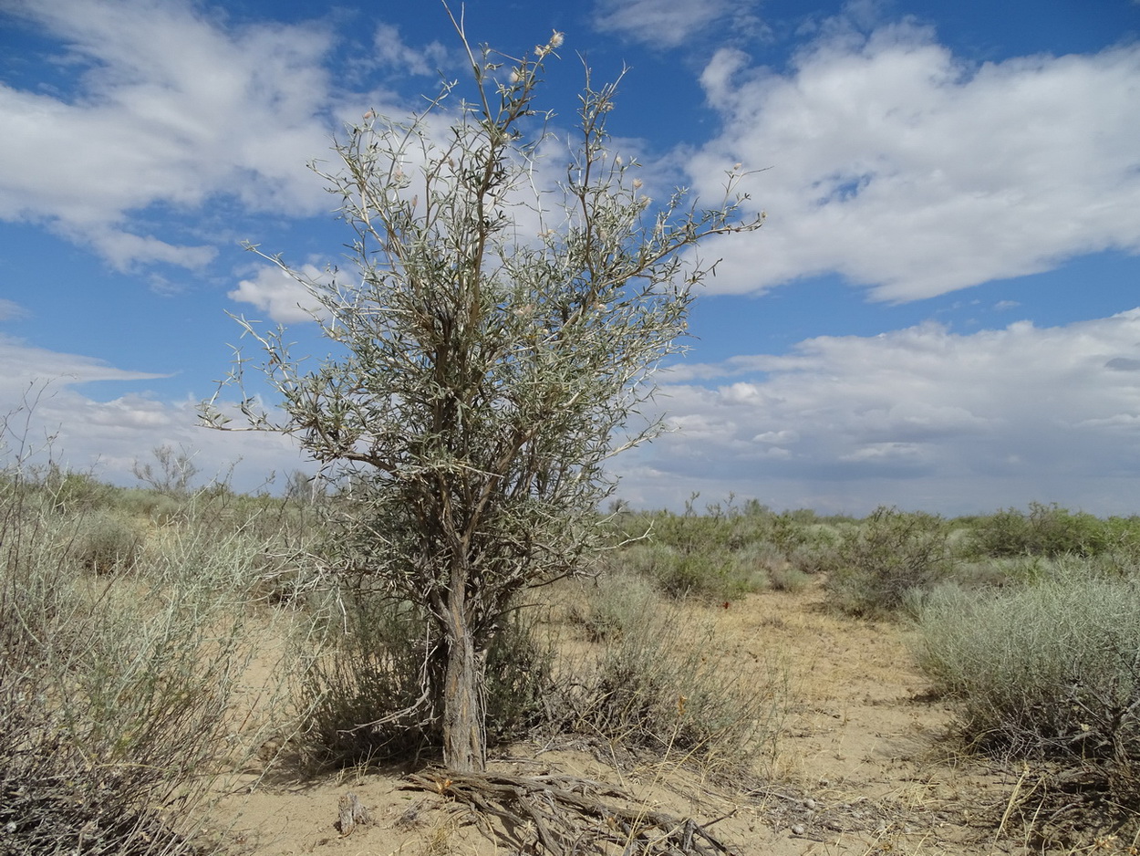
[[[223,30],[188,2],[10,0],[66,46],[74,98],[0,82],[0,218],[46,221],[116,267],[198,267],[206,245],[147,233],[137,215],[229,195],[302,215],[324,192],[306,163],[328,148],[332,35],[312,22]]]

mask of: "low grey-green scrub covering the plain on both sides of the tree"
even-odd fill
[[[405,716],[426,644],[414,607],[328,574],[336,490],[290,493],[5,470],[0,853],[209,849],[219,777],[270,735],[291,775],[440,757],[438,732]],[[822,584],[850,620],[913,628],[968,745],[1080,769],[1138,805],[1140,519],[756,502],[600,519],[611,549],[592,579],[516,601],[487,653],[492,744],[545,735],[756,775],[785,691],[777,673],[741,686],[700,606]],[[287,662],[253,691],[250,662],[285,636]]]

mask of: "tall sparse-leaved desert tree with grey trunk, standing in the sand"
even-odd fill
[[[606,134],[616,87],[588,73],[561,151],[535,103],[561,42],[522,58],[467,48],[471,102],[449,111],[450,84],[410,120],[369,113],[337,142],[320,175],[351,267],[316,282],[274,259],[319,305],[334,354],[306,370],[282,330],[241,321],[285,415],[249,395],[241,410],[355,470],[339,562],[417,606],[424,686],[398,718],[439,727],[459,770],[484,765],[486,652],[515,596],[581,571],[612,490],[604,462],[661,430],[640,407],[712,269],[683,251],[762,221],[740,219],[739,170],[717,207],[684,191],[654,204]],[[567,158],[561,181],[540,150]],[[213,403],[204,417],[228,421]]]

